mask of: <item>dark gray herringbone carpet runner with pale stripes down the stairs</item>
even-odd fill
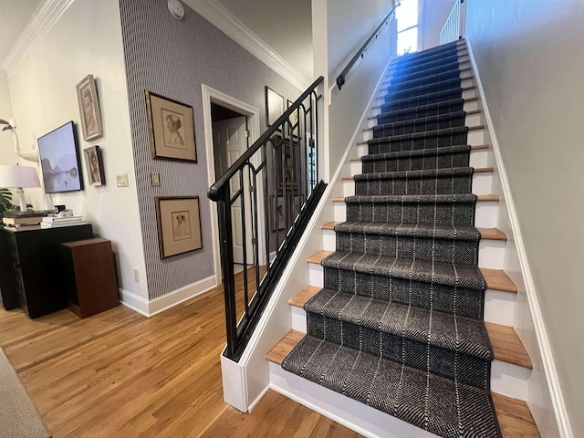
[[[499,437],[458,45],[400,57],[293,372],[443,437]]]

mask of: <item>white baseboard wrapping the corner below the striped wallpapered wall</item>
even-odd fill
[[[216,286],[215,276],[208,276],[191,285],[173,290],[170,294],[150,300],[120,288],[121,304],[145,317],[153,317]]]

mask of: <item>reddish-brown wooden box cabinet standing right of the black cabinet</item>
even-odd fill
[[[111,242],[93,238],[61,244],[68,306],[79,318],[118,306],[118,282]]]

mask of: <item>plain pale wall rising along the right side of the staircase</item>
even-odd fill
[[[584,436],[584,3],[468,0],[471,42],[573,436]],[[513,274],[513,273],[512,273]],[[528,318],[516,329],[533,344]],[[533,401],[537,394],[531,393]],[[548,436],[542,431],[542,436]]]

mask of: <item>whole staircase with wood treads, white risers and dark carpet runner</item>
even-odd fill
[[[538,436],[464,53],[392,64],[295,330],[267,355],[276,389],[365,435]]]

